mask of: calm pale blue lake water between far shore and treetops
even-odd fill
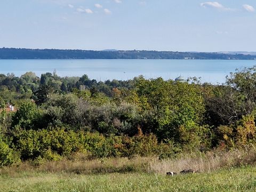
[[[256,60],[0,60],[0,73],[20,76],[33,71],[37,76],[57,70],[59,76],[82,76],[91,79],[127,80],[143,75],[145,78],[178,76],[201,77],[203,82],[223,83],[225,76],[236,68],[252,67]]]

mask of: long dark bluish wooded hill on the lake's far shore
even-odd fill
[[[223,59],[256,60],[256,55],[173,51],[58,50],[0,48],[0,59]]]

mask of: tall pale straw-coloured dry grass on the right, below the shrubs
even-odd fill
[[[180,172],[185,169],[193,169],[202,173],[209,173],[219,169],[251,165],[256,162],[256,149],[251,147],[244,150],[210,151],[196,157],[180,157],[178,159],[155,159],[149,163],[148,171],[166,174],[166,172]]]

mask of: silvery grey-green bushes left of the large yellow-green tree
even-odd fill
[[[41,108],[43,121],[47,122],[45,129],[47,126],[68,126],[73,130],[95,130],[105,135],[134,135],[140,118],[135,105],[125,102],[93,105],[74,94],[51,94]]]

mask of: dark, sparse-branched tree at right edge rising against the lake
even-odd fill
[[[211,91],[205,97],[208,123],[215,127],[235,123],[256,107],[256,66],[237,69],[225,85],[212,86]]]

